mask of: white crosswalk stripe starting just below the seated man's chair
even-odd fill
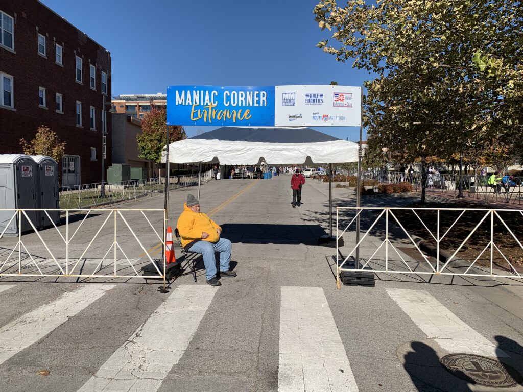
[[[177,287],[79,391],[158,390],[187,349],[216,292],[210,286]]]

